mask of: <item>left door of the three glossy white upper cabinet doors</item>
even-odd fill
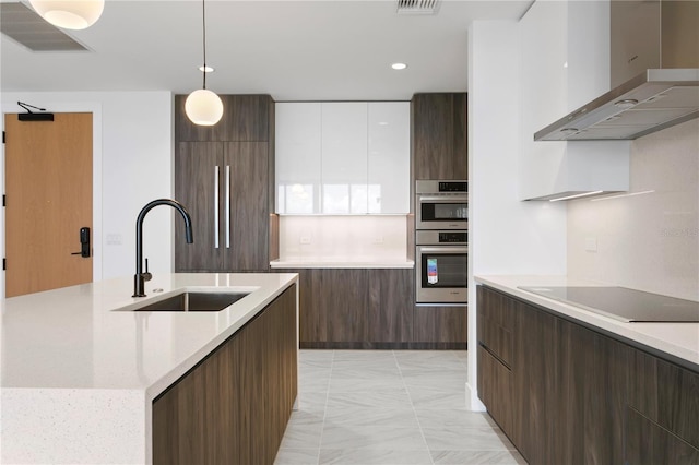
[[[320,212],[321,104],[275,106],[276,213]]]

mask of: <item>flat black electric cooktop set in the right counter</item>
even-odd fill
[[[697,301],[626,287],[520,286],[519,288],[628,323],[699,322],[699,302]]]

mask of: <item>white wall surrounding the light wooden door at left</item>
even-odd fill
[[[133,274],[137,215],[149,201],[173,195],[171,93],[3,93],[0,98],[3,114],[21,112],[17,100],[55,112],[93,112],[93,278]],[[158,207],[145,219],[143,249],[153,272],[174,270],[171,218],[171,208]],[[0,229],[4,251],[4,226]]]

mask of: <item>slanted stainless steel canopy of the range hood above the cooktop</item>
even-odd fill
[[[534,140],[630,140],[697,117],[699,69],[647,70],[537,131]]]

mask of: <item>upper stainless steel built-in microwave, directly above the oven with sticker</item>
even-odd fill
[[[467,181],[415,183],[415,229],[469,229]]]

